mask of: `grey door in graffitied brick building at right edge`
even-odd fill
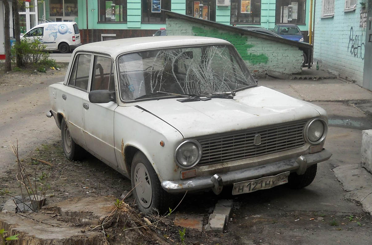
[[[368,1],[363,88],[372,90],[372,0]]]

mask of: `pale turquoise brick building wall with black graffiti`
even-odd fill
[[[321,0],[315,7],[314,61],[359,86],[363,86],[363,70],[371,70],[371,64],[365,64],[371,57],[366,49],[371,45],[368,8],[371,0],[369,4],[368,0]]]

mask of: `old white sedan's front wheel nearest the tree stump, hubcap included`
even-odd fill
[[[133,157],[131,182],[138,208],[142,212],[156,213],[158,210],[163,215],[172,207],[171,195],[161,187],[154,168],[140,151]]]

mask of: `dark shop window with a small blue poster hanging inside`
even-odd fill
[[[171,0],[142,0],[142,23],[165,23],[161,9],[171,10]]]

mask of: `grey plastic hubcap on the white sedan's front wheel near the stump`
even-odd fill
[[[151,186],[150,175],[142,162],[138,163],[134,170],[134,185],[137,186],[136,193],[141,205],[145,208],[150,207],[153,197],[153,189]]]

